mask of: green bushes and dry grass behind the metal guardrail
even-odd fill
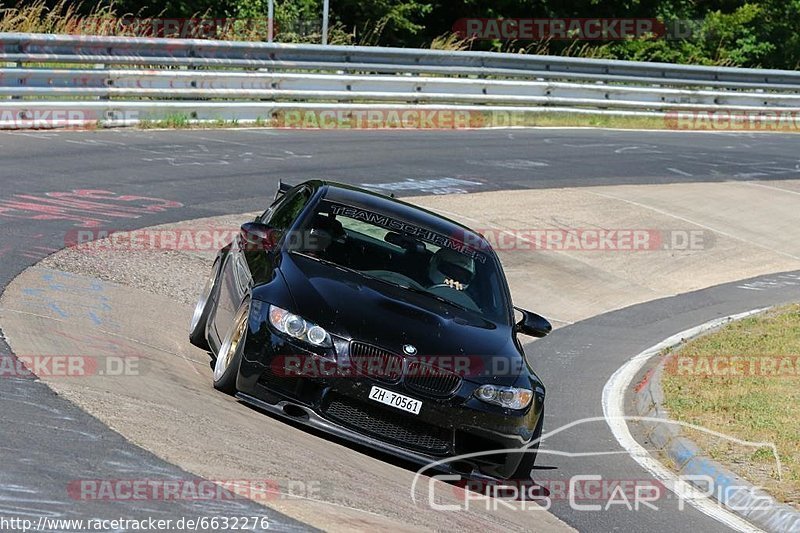
[[[275,40],[320,42],[323,0],[275,0]],[[92,33],[119,33],[115,17],[212,17],[266,20],[268,0],[117,0],[77,3],[34,0],[0,4],[0,31],[86,33],[76,21],[109,21]],[[696,21],[682,38],[625,41],[470,40],[453,32],[464,18],[659,18]],[[800,0],[330,0],[329,42],[430,46],[581,57],[796,69],[800,65]],[[244,22],[241,22],[244,21]],[[249,28],[249,26],[247,26]],[[217,38],[265,40],[265,32],[234,28]],[[134,30],[127,29],[129,33]]]

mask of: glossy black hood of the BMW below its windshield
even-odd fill
[[[334,335],[397,354],[410,344],[432,362],[458,358],[464,377],[480,383],[511,385],[524,366],[508,325],[297,253],[284,255],[280,272],[290,311]]]

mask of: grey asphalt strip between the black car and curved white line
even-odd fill
[[[600,398],[608,378],[633,355],[676,333],[716,318],[800,300],[800,271],[761,276],[708,289],[633,305],[561,328],[551,337],[530,344],[529,361],[547,385],[545,428],[603,416]],[[761,290],[745,287],[757,284]],[[749,285],[753,286],[753,285]],[[552,417],[551,417],[552,413]],[[633,414],[633,413],[628,413]],[[634,425],[634,424],[629,424]],[[635,429],[632,428],[635,433]],[[570,476],[599,475],[604,480],[646,480],[650,476],[627,455],[604,455],[619,450],[604,420],[573,426],[542,447],[582,456],[549,454],[537,458],[534,480],[569,481]],[[597,455],[593,455],[597,454]],[[547,486],[545,483],[541,483]],[[610,498],[609,498],[610,499]],[[569,502],[553,499],[553,513],[579,531],[724,531],[727,528],[683,502],[671,492],[631,513],[621,505],[605,509],[608,500],[580,502],[601,505],[602,511],[574,512]],[[632,523],[631,519],[637,522]]]

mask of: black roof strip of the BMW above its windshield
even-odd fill
[[[481,243],[478,248],[484,247],[482,251],[492,249],[480,233],[422,207],[345,183],[323,181],[322,185],[325,200],[390,216],[440,235],[464,239],[467,243]]]

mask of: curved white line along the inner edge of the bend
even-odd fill
[[[631,435],[628,424],[625,421],[625,391],[630,387],[633,378],[642,369],[645,363],[653,356],[660,353],[663,349],[679,343],[682,339],[694,337],[706,331],[717,328],[731,320],[738,320],[764,311],[765,309],[754,309],[737,315],[718,318],[705,324],[681,331],[651,346],[639,355],[634,356],[627,363],[622,365],[614,375],[612,375],[603,387],[603,415],[614,437],[620,445],[628,452],[628,455],[639,463],[639,465],[650,472],[656,479],[662,481],[664,486],[674,492],[683,501],[688,502],[701,513],[710,516],[718,522],[736,531],[755,532],[761,531],[743,518],[729,511],[715,500],[705,496],[693,485],[683,481],[671,470],[657,461],[650,453],[639,444]]]

